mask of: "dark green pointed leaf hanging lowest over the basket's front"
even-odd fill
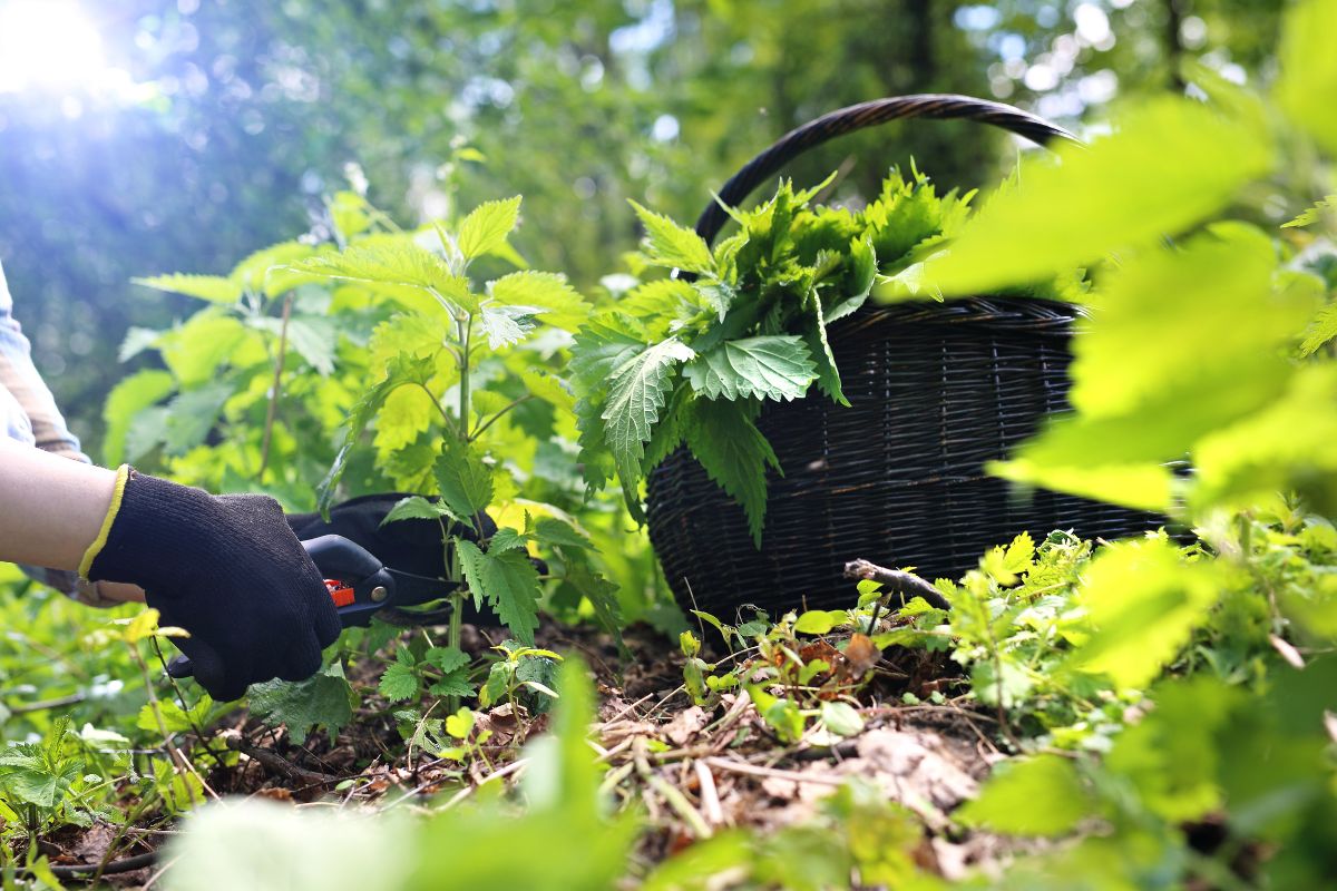
[[[766,522],[766,468],[779,470],[779,461],[751,422],[749,407],[722,399],[698,401],[687,448],[710,478],[742,505],[753,542],[761,548]]]

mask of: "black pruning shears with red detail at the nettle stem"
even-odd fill
[[[414,606],[440,600],[456,582],[404,572],[382,564],[372,552],[344,536],[321,536],[302,546],[325,580],[325,590],[344,628],[366,627],[382,609]],[[190,677],[194,665],[186,656],[167,664],[172,677]]]

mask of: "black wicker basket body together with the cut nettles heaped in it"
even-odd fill
[[[636,206],[646,264],[677,274],[631,289],[576,337],[587,481],[620,481],[679,602],[844,605],[854,558],[932,578],[1021,530],[1154,526],[1019,496],[983,470],[1067,409],[1082,271],[935,299],[919,264],[967,220],[973,192],[939,194],[912,164],[860,208],[817,204],[829,183],[782,180],[747,211],[721,202],[738,227],[713,250]],[[707,212],[699,228],[713,236],[722,222]],[[870,303],[874,283],[902,302]]]

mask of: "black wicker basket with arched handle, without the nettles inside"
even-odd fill
[[[896,118],[965,118],[1036,142],[1068,134],[1016,108],[965,96],[898,96],[832,112],[758,155],[721,191],[742,202],[794,155],[836,135]],[[713,240],[726,219],[714,203],[697,223]],[[758,419],[785,476],[770,474],[762,549],[742,509],[686,449],[648,480],[650,540],[681,605],[731,616],[742,604],[773,614],[802,604],[842,606],[848,560],[955,577],[992,545],[1024,530],[1112,538],[1158,517],[1052,492],[1021,496],[987,477],[1042,419],[1068,410],[1067,367],[1076,307],[972,298],[866,306],[830,329],[852,407],[826,397],[766,402]]]

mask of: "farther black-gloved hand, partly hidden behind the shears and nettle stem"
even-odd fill
[[[302,541],[318,536],[344,536],[361,545],[386,566],[428,578],[447,577],[447,548],[441,544],[441,524],[436,520],[397,520],[381,525],[385,514],[406,492],[361,496],[330,508],[329,522],[318,513],[287,514],[287,525]],[[497,526],[485,513],[481,514],[484,537],[496,533]],[[449,534],[477,541],[473,529],[459,525],[449,526]]]

